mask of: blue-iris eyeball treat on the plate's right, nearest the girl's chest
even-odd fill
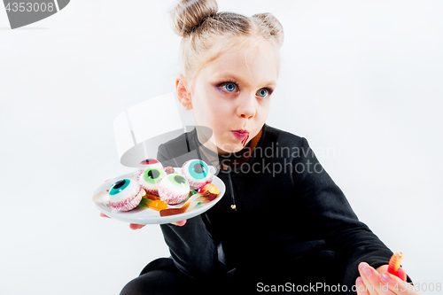
[[[201,159],[190,159],[184,162],[182,175],[186,177],[194,190],[212,182],[214,178],[214,172]]]

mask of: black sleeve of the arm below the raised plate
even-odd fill
[[[165,167],[177,167],[165,146],[159,146],[157,159]],[[189,219],[182,227],[161,224],[165,242],[177,268],[193,278],[208,277],[214,273],[217,252],[201,215]]]

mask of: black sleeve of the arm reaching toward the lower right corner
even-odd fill
[[[366,224],[358,220],[344,193],[309,148],[307,139],[302,140],[299,162],[294,163],[294,183],[316,229],[336,252],[339,267],[345,273],[343,283],[347,285],[349,293],[353,293],[350,290],[360,276],[359,263],[365,261],[378,268],[388,264],[392,251]]]

